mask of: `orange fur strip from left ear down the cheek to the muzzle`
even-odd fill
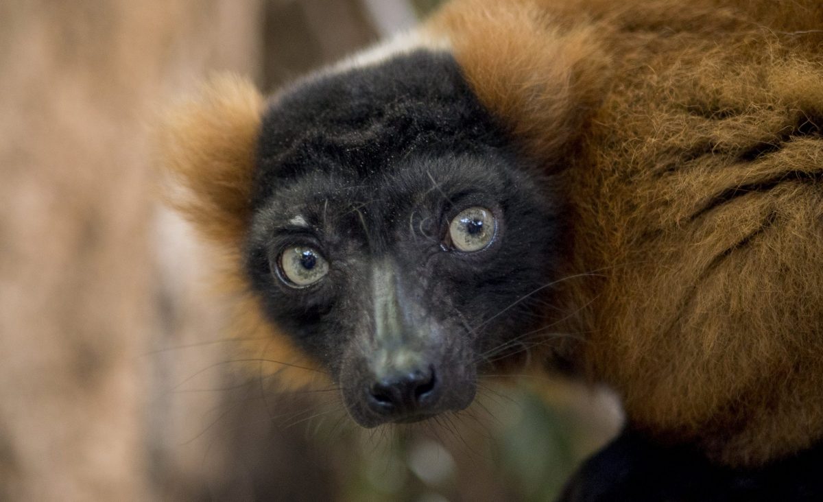
[[[249,291],[241,250],[249,227],[254,149],[264,106],[249,81],[215,77],[199,95],[171,108],[160,124],[160,161],[170,174],[170,204],[214,245],[218,280],[233,297],[232,331],[250,366],[277,373],[287,387],[328,384],[319,365],[263,318]],[[286,363],[286,364],[282,364]]]

